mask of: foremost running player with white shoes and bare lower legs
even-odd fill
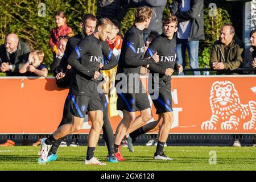
[[[97,158],[94,158],[94,150],[103,125],[103,106],[97,90],[97,78],[100,76],[100,68],[102,70],[110,69],[108,66],[101,67],[100,61],[102,56],[109,56],[102,51],[101,41],[105,41],[111,33],[112,26],[112,22],[107,18],[98,20],[94,33],[79,42],[68,57],[68,64],[71,65],[75,72],[67,97],[67,100],[72,100],[69,106],[73,121],[59,127],[47,139],[42,139],[40,154],[43,161],[47,160],[49,149],[56,140],[81,129],[85,113],[88,111],[88,115],[92,120],[92,128],[88,136],[85,164],[105,165],[105,163],[101,163]]]

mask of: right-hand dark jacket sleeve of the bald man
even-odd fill
[[[28,46],[28,44],[26,43],[23,43],[22,55],[20,55],[18,63],[12,64],[13,69],[11,72],[19,72],[19,68],[21,68],[22,65],[27,62],[29,55],[30,55],[30,46]]]

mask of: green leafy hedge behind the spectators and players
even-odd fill
[[[172,0],[168,0],[170,4]],[[42,7],[38,7],[39,3],[46,5],[46,16],[39,16],[38,12]],[[80,30],[79,22],[82,14],[96,14],[97,0],[55,0],[55,1],[7,1],[0,0],[0,43],[4,43],[5,35],[14,32],[23,42],[30,44],[32,49],[41,49],[46,54],[44,64],[48,67],[52,62],[52,52],[49,48],[49,32],[55,27],[54,14],[56,11],[64,10],[68,15],[68,26],[72,27],[75,34]],[[167,6],[168,7],[168,6]],[[208,9],[205,9],[205,35],[206,40],[200,46],[200,67],[209,64],[210,44],[217,39],[220,24],[225,20],[229,22],[228,13],[225,11],[217,18],[210,19]],[[134,22],[135,9],[130,9],[122,21],[122,32],[124,35],[126,30]],[[170,11],[168,8],[164,10],[164,16]],[[217,25],[215,24],[217,23]],[[213,26],[212,26],[213,25]]]

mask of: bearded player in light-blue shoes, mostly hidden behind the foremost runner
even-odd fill
[[[92,14],[85,14],[82,16],[82,20],[80,23],[80,26],[82,28],[82,32],[80,34],[77,34],[76,36],[73,36],[68,44],[67,44],[67,51],[65,51],[63,59],[61,59],[61,66],[58,68],[59,73],[56,75],[57,79],[57,85],[60,87],[67,87],[70,85],[72,76],[73,76],[73,70],[67,69],[67,57],[70,55],[73,49],[75,49],[77,43],[79,43],[81,40],[83,40],[86,36],[91,35],[93,31],[96,28],[97,19]],[[101,42],[102,45],[102,51],[105,52],[105,55],[108,55],[108,57],[105,57],[105,60],[108,62],[105,65],[104,69],[109,69],[117,65],[117,61],[115,61],[115,56],[112,55],[112,50],[109,48],[108,44],[106,42]],[[67,71],[66,71],[67,70]],[[65,72],[65,74],[63,74]],[[107,155],[108,162],[118,162],[118,160],[114,156],[114,135],[113,135],[113,129],[109,122],[108,117],[108,105],[106,104],[106,97],[104,94],[100,94],[101,103],[104,106],[103,109],[103,120],[104,125],[102,126],[103,130],[103,137],[105,139],[106,145],[108,147],[109,154]],[[63,111],[63,118],[61,120],[61,123],[59,125],[62,126],[67,123],[71,123],[73,120],[71,111],[69,109],[69,105],[71,105],[72,100],[70,97],[67,97],[67,100],[65,101],[65,109]],[[46,162],[51,162],[52,160],[57,159],[57,149],[59,148],[63,138],[56,140],[52,144],[51,150],[48,153],[48,158]],[[39,162],[42,163],[42,158],[39,159]]]

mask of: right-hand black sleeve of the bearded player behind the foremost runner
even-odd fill
[[[102,70],[112,69],[117,65],[117,59],[115,58],[112,49],[110,49],[108,43],[106,41],[101,42],[101,48],[103,56],[108,60],[108,64],[105,64],[102,67]]]

